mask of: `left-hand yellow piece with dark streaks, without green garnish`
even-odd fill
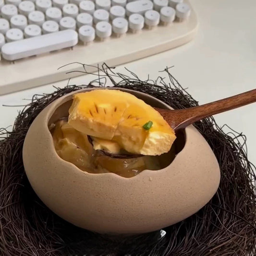
[[[115,94],[112,90],[75,94],[68,123],[84,134],[111,140],[127,108],[127,102]]]

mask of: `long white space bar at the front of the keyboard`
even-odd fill
[[[75,31],[64,30],[5,44],[2,47],[2,57],[8,61],[14,61],[37,54],[73,47],[77,42],[78,35]]]

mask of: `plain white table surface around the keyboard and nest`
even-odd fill
[[[195,40],[121,65],[116,71],[125,73],[127,67],[142,79],[147,74],[154,79],[158,71],[174,65],[171,73],[200,104],[256,88],[256,0],[191,0],[191,3],[200,23]],[[70,84],[86,84],[91,80],[91,75],[80,76]],[[24,105],[28,102],[24,98],[54,91],[52,85],[63,87],[67,81],[0,96],[0,127],[12,125],[22,109],[2,104]],[[215,115],[215,119],[219,125],[226,123],[247,136],[248,157],[256,164],[256,103]]]

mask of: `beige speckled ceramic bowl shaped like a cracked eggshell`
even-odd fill
[[[109,88],[108,88],[109,89]],[[112,88],[113,89],[113,88]],[[89,91],[92,89],[83,89]],[[171,109],[144,93],[127,89],[153,107]],[[81,171],[56,153],[48,125],[68,116],[72,92],[53,103],[31,124],[23,147],[24,168],[39,198],[61,218],[108,234],[156,231],[197,212],[219,186],[219,165],[210,146],[193,127],[171,164],[132,178]]]

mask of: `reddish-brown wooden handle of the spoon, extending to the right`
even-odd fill
[[[173,116],[175,123],[170,124],[175,130],[182,129],[208,116],[219,114],[227,110],[236,109],[253,102],[256,102],[256,89],[201,106],[184,110],[174,110],[174,113],[172,114],[175,115]]]

